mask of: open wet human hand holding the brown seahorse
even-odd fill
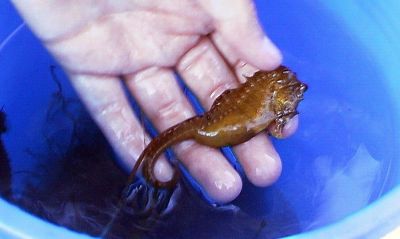
[[[281,63],[279,50],[264,36],[248,0],[12,2],[64,67],[126,169],[133,167],[143,142],[150,139],[133,114],[122,82],[163,131],[195,114],[174,70],[208,109],[220,93],[236,87],[242,75]],[[296,126],[297,118],[284,133],[293,133]],[[266,133],[233,149],[253,184],[267,186],[280,175],[281,161]],[[241,191],[240,176],[219,150],[192,141],[174,150],[215,201],[229,202]],[[161,157],[155,175],[167,181],[172,170]]]

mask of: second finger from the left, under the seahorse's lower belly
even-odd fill
[[[195,115],[171,70],[152,68],[126,79],[128,88],[158,130]],[[223,203],[239,194],[240,176],[218,150],[193,141],[180,143],[174,149],[211,198]]]

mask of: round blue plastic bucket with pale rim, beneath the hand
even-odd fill
[[[281,178],[266,189],[245,183],[233,204],[254,222],[265,220],[270,229],[261,228],[259,238],[379,238],[395,230],[400,226],[400,5],[390,0],[256,4],[284,64],[309,91],[297,133],[274,141],[283,161]],[[54,59],[10,3],[1,1],[0,108],[8,126],[1,139],[15,174],[35,172],[41,167],[35,156],[52,150],[42,126],[52,103],[60,104],[54,100],[60,86],[66,98],[76,98],[59,68],[60,85],[54,82],[52,65]],[[72,126],[63,122],[47,133],[66,144]],[[51,160],[46,165],[58,167]],[[31,176],[13,178],[16,195]],[[201,235],[248,238],[223,233]],[[0,199],[0,238],[89,236]]]

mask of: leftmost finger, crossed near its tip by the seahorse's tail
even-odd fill
[[[75,74],[70,75],[70,79],[90,115],[121,157],[122,166],[131,170],[149,137],[135,118],[119,79]],[[163,157],[155,172],[159,180],[167,181],[173,171]]]

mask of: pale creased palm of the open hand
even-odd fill
[[[67,4],[45,15],[49,26],[46,32],[42,33],[44,27],[38,31],[72,72],[117,75],[151,66],[173,67],[200,35],[211,30],[211,18],[198,6],[175,2],[180,4],[132,1],[121,6],[121,1],[101,1],[94,10],[84,2],[73,9]],[[73,19],[76,8],[79,17]]]

